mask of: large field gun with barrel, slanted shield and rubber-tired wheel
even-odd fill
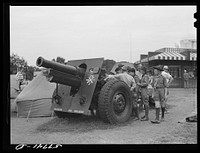
[[[105,81],[104,59],[93,58],[60,64],[39,57],[36,65],[45,67],[49,82],[56,83],[51,109],[58,117],[69,113],[94,112],[107,123],[126,122],[132,112],[132,96],[123,81]]]

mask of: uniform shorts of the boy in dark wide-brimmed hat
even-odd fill
[[[165,89],[157,88],[154,91],[154,100],[160,102],[161,107],[165,107]]]

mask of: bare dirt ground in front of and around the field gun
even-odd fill
[[[12,114],[11,144],[197,144],[197,122],[178,123],[194,110],[196,90],[171,88],[169,91],[169,114],[161,124],[130,119],[116,126],[91,116],[41,117],[27,121]],[[154,109],[149,117],[155,118]]]

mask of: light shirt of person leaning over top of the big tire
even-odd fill
[[[124,81],[129,87],[134,87],[134,88],[136,87],[134,78],[126,72],[111,75],[109,76],[109,78],[116,78],[121,81]]]

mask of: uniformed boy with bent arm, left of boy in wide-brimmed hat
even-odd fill
[[[141,67],[142,78],[141,81],[137,83],[137,85],[141,88],[141,97],[142,97],[142,104],[144,105],[145,115],[141,118],[141,121],[148,121],[149,120],[149,95],[147,86],[149,84],[149,77],[146,74],[147,69],[146,67]]]

